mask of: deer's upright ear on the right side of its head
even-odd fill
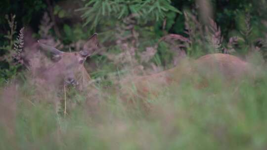
[[[87,57],[93,54],[98,48],[97,33],[94,33],[84,45],[84,49],[80,52],[81,55]]]

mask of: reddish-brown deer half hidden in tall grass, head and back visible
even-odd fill
[[[40,42],[39,46],[42,50],[49,51],[55,55],[55,57],[59,58],[59,60],[42,75],[48,84],[53,83],[56,86],[71,84],[76,86],[79,90],[86,90],[88,97],[97,95],[99,91],[95,85],[92,84],[92,79],[84,67],[86,59],[98,49],[97,34],[93,34],[89,38],[83,50],[80,52],[62,52]],[[216,53],[202,56],[192,61],[192,63],[186,62],[183,63],[183,65],[154,75],[134,76],[132,79],[123,79],[119,82],[120,85],[130,85],[128,87],[134,86],[138,93],[137,95],[145,97],[148,93],[157,95],[159,92],[158,89],[151,88],[151,84],[153,87],[166,87],[170,84],[178,85],[183,76],[196,73],[197,75],[209,78],[215,71],[219,71],[226,80],[234,80],[241,75],[248,74],[251,68],[251,64],[236,56]],[[53,77],[51,77],[51,75]],[[128,99],[131,97],[131,94],[133,94],[129,92],[126,87],[127,86],[123,86],[115,90],[119,93],[122,100]]]

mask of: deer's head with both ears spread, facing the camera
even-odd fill
[[[51,53],[56,58],[56,62],[42,74],[45,81],[55,86],[62,85],[63,83],[79,85],[83,78],[81,73],[84,73],[87,76],[87,80],[89,80],[90,77],[84,68],[84,62],[87,57],[97,50],[97,45],[97,34],[93,34],[89,38],[80,52],[62,52],[52,46],[39,42],[42,50]]]

